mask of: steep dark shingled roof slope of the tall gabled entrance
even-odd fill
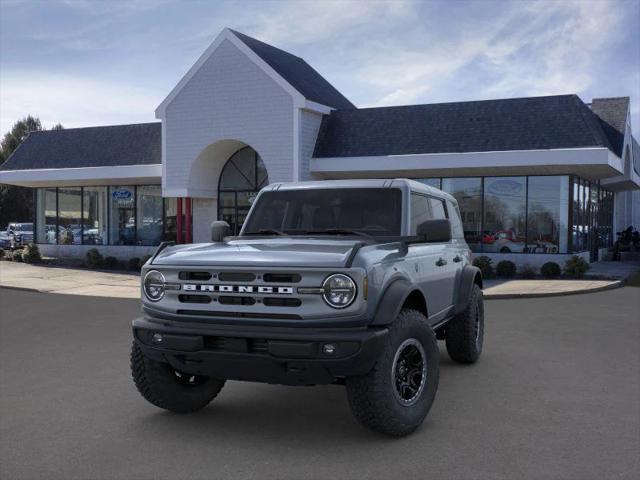
[[[356,108],[302,58],[229,29],[307,100],[339,109]]]

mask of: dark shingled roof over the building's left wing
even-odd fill
[[[31,132],[0,170],[162,163],[160,123]]]

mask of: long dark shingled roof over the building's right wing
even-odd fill
[[[491,152],[612,146],[577,95],[336,110],[314,157]]]

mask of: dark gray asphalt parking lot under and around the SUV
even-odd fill
[[[486,311],[480,362],[442,351],[427,421],[391,439],[338,386],[228,382],[163,412],[130,379],[137,301],[0,289],[0,478],[638,478],[640,289]]]

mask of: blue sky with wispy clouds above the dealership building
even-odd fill
[[[630,96],[640,134],[640,0],[0,0],[0,133],[154,121],[224,27],[358,107]]]

